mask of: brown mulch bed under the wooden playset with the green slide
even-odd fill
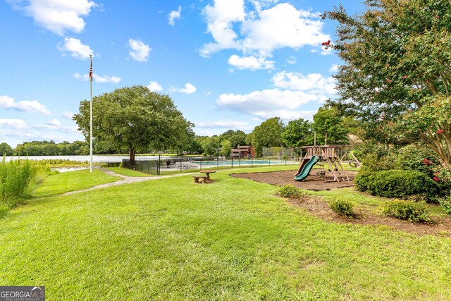
[[[307,190],[332,190],[344,187],[352,187],[352,181],[346,182],[324,182],[319,176],[316,176],[315,170],[311,171],[307,179],[301,181],[293,180],[295,170],[292,171],[270,171],[266,173],[232,173],[230,176],[235,178],[245,178],[261,183],[268,183],[271,185],[283,186],[291,184],[297,188]],[[347,176],[354,180],[355,171],[346,171]]]

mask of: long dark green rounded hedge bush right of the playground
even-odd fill
[[[360,191],[378,197],[407,199],[412,195],[424,195],[432,200],[439,194],[437,183],[419,171],[376,171],[357,174],[354,183]]]

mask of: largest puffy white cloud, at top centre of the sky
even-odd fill
[[[257,65],[257,62],[271,57],[275,49],[319,47],[321,42],[330,39],[322,32],[324,23],[319,18],[320,13],[297,10],[288,3],[264,9],[276,2],[253,0],[255,11],[248,13],[245,13],[243,0],[216,0],[214,6],[207,5],[204,8],[207,31],[214,42],[204,44],[200,54],[210,56],[223,49],[235,49],[242,51],[245,57],[235,55],[233,59],[230,57],[229,63],[242,69],[256,70],[256,66],[268,68],[268,65]],[[254,59],[250,62],[247,58]]]

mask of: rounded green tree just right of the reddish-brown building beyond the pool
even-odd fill
[[[283,122],[278,117],[269,118],[254,128],[249,137],[257,156],[261,156],[263,147],[281,147],[283,145],[283,129]]]

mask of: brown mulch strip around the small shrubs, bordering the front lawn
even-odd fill
[[[296,207],[307,210],[310,214],[335,223],[351,223],[354,225],[386,227],[387,229],[404,231],[415,235],[435,235],[451,238],[451,219],[447,216],[433,216],[431,223],[412,223],[388,216],[379,215],[371,209],[358,208],[355,219],[347,219],[335,214],[328,202],[319,198],[290,199],[288,202]]]

